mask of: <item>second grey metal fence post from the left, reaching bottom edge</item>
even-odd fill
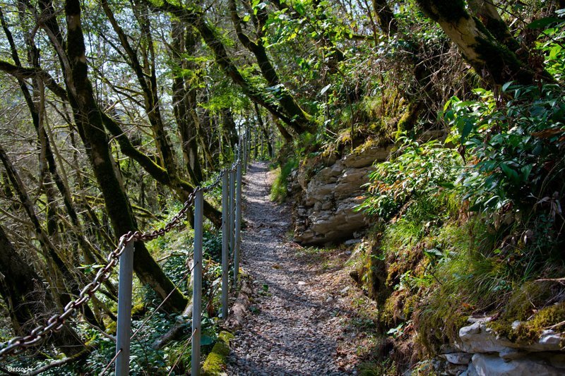
[[[200,339],[202,311],[202,222],[204,206],[203,190],[196,190],[194,198],[194,269],[192,275],[192,354],[191,375],[200,375]]]

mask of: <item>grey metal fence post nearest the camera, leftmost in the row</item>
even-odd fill
[[[129,375],[129,341],[131,336],[131,290],[133,288],[133,241],[119,257],[118,323],[116,329],[116,376]]]

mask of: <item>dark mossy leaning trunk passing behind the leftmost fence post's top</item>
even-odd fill
[[[66,74],[70,102],[79,133],[83,138],[88,157],[105,199],[106,210],[116,234],[136,231],[136,219],[124,187],[116,175],[112,154],[108,147],[107,134],[104,131],[102,114],[93,95],[93,87],[88,79],[88,66],[85,56],[85,43],[81,28],[81,3],[67,0],[65,3],[67,23],[67,56],[70,72]],[[167,278],[162,269],[153,260],[145,244],[136,243],[133,269],[138,278],[148,284],[161,298],[166,298],[168,310],[182,311],[188,303],[186,297]]]

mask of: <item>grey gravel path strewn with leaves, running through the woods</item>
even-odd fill
[[[254,301],[232,341],[227,374],[355,375],[340,354],[348,334],[337,298],[288,241],[290,207],[270,202],[271,181],[267,164],[249,167],[242,266],[254,279]]]

